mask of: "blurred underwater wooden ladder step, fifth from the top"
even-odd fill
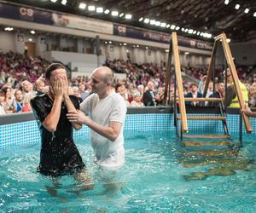
[[[236,156],[238,154],[238,150],[228,150],[228,151],[191,151],[183,153],[183,156]]]

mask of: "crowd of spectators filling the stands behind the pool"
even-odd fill
[[[32,58],[26,54],[13,52],[0,53],[0,114],[12,112],[30,112],[30,100],[35,95],[42,95],[49,91],[49,85],[45,81],[44,72],[49,62],[41,57]],[[132,64],[125,60],[106,60],[106,66],[113,72],[125,73],[125,79],[115,78],[113,90],[123,96],[127,107],[149,107],[162,105],[164,101],[164,89],[166,81],[166,63],[160,66],[153,63],[142,65]],[[172,69],[172,82],[174,79],[174,67]],[[256,74],[248,76],[252,67],[237,67],[238,77],[244,83],[248,91],[249,107],[256,107]],[[206,81],[207,69],[182,67],[182,72],[200,79],[199,84],[183,82],[183,93],[186,96],[193,95],[193,90],[202,93]],[[223,72],[216,71],[215,90],[223,85]],[[79,97],[84,101],[91,94],[90,77],[79,76],[69,81],[69,94]],[[174,93],[174,84],[171,83],[171,95]],[[207,96],[213,95],[213,83],[210,83]],[[195,95],[194,95],[195,96]],[[224,97],[224,94],[222,94]]]

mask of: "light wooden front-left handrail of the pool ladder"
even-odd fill
[[[172,32],[172,53],[173,53],[175,75],[176,75],[176,81],[177,81],[177,99],[178,99],[178,107],[179,107],[179,113],[181,118],[181,130],[182,132],[188,132],[188,121],[187,121],[187,113],[185,109],[185,101],[184,101],[184,94],[183,94],[183,80],[182,80],[180,61],[179,61],[179,55],[178,55],[176,32]],[[177,103],[174,103],[174,104],[177,104]]]

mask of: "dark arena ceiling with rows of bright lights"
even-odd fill
[[[160,32],[170,33],[171,26],[179,26],[178,35],[210,41],[211,39],[200,37],[196,33],[207,32],[214,37],[226,32],[232,42],[256,39],[256,0],[9,0],[8,2],[79,14]],[[79,9],[80,3],[85,3],[86,8]],[[239,4],[239,9],[236,4]],[[89,11],[90,5],[102,7],[104,11],[109,9],[110,13],[98,14],[96,11]],[[249,11],[245,13],[245,9]],[[124,15],[113,17],[111,15],[113,10],[118,11],[119,15],[122,13]],[[126,20],[125,14],[131,14],[131,20]],[[139,21],[141,17],[143,20]],[[166,23],[170,27],[146,24],[144,23],[146,18]],[[188,31],[192,29],[196,33],[189,34],[186,29]]]

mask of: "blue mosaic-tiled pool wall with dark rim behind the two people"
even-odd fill
[[[129,108],[125,118],[124,130],[128,130],[130,132],[159,130],[175,131],[175,126],[173,125],[174,117],[172,112],[172,107]],[[212,111],[209,111],[209,109],[201,109],[199,112],[198,109],[193,109],[189,113],[192,113],[193,116],[207,116],[209,115],[209,112]],[[256,119],[250,118],[250,120],[254,130],[253,134],[256,134]],[[240,115],[236,110],[228,110],[227,123],[230,130],[230,135],[238,135]],[[223,124],[218,120],[189,120],[188,126],[189,134],[224,133]],[[178,128],[180,128],[179,124]],[[83,126],[82,130],[74,130],[74,137],[88,134],[89,128],[86,126]],[[244,126],[243,134],[245,134]],[[38,124],[31,112],[0,116],[0,149],[19,147],[38,142],[40,142]]]

